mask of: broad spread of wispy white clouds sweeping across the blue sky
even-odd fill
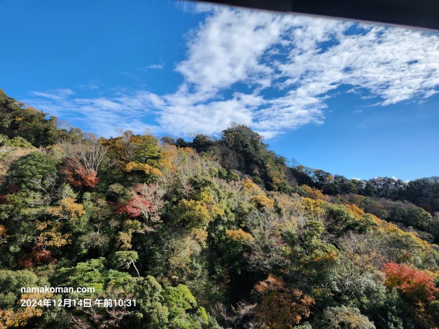
[[[143,130],[149,115],[160,132],[212,134],[236,121],[270,138],[322,123],[327,99],[336,97],[340,86],[376,97],[379,106],[438,93],[438,34],[211,5],[201,9],[209,14],[188,34],[186,58],[175,68],[184,80],[175,93],[139,90],[112,99],[74,99],[72,90],[58,90],[34,92],[40,104],[32,104],[78,113],[84,121],[93,118],[102,134],[110,125]],[[161,69],[153,66],[147,67]]]

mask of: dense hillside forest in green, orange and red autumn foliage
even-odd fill
[[[348,180],[238,124],[97,138],[0,90],[0,328],[438,328],[437,243],[438,177]]]

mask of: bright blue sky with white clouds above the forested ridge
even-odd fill
[[[88,132],[235,121],[348,178],[439,175],[436,32],[167,0],[0,5],[0,88]]]

